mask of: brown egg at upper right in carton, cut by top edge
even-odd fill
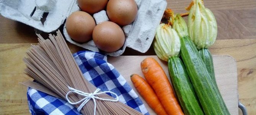
[[[137,12],[138,8],[134,0],[109,0],[107,5],[109,20],[119,25],[132,23]]]

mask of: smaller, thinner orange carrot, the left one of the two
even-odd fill
[[[150,106],[157,115],[167,115],[157,95],[146,80],[137,74],[132,74],[130,80],[132,80],[134,87],[147,102],[148,106]]]

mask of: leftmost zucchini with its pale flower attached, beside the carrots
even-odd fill
[[[184,64],[178,57],[180,46],[179,36],[171,25],[160,24],[157,27],[154,50],[161,60],[168,61],[171,83],[183,112],[186,115],[204,115]]]

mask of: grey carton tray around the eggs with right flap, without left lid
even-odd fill
[[[167,2],[165,0],[135,0],[135,2],[138,6],[138,14],[136,19],[132,24],[122,27],[126,36],[124,46],[122,46],[121,49],[117,50],[116,52],[104,52],[107,55],[122,55],[126,47],[130,47],[142,53],[147,52],[149,49],[154,39],[157,26],[160,24],[161,18],[165,11]],[[93,14],[93,18],[95,19],[96,24],[109,20],[106,11],[104,10]],[[101,52],[96,47],[93,40],[83,44],[73,41],[70,36],[68,36],[65,26],[63,33],[67,41],[70,43],[94,52]]]

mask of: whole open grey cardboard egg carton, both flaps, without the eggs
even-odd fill
[[[167,2],[165,0],[135,0],[138,14],[134,22],[122,27],[126,41],[124,46],[110,56],[119,56],[126,47],[145,53],[149,49]],[[0,13],[10,19],[30,25],[43,32],[57,30],[73,12],[79,11],[76,0],[0,0]],[[47,16],[45,16],[45,13]],[[93,14],[96,24],[107,21],[106,11]],[[45,20],[45,21],[44,21]],[[80,44],[73,41],[64,26],[64,36],[72,44],[88,50],[100,52],[93,40]]]

